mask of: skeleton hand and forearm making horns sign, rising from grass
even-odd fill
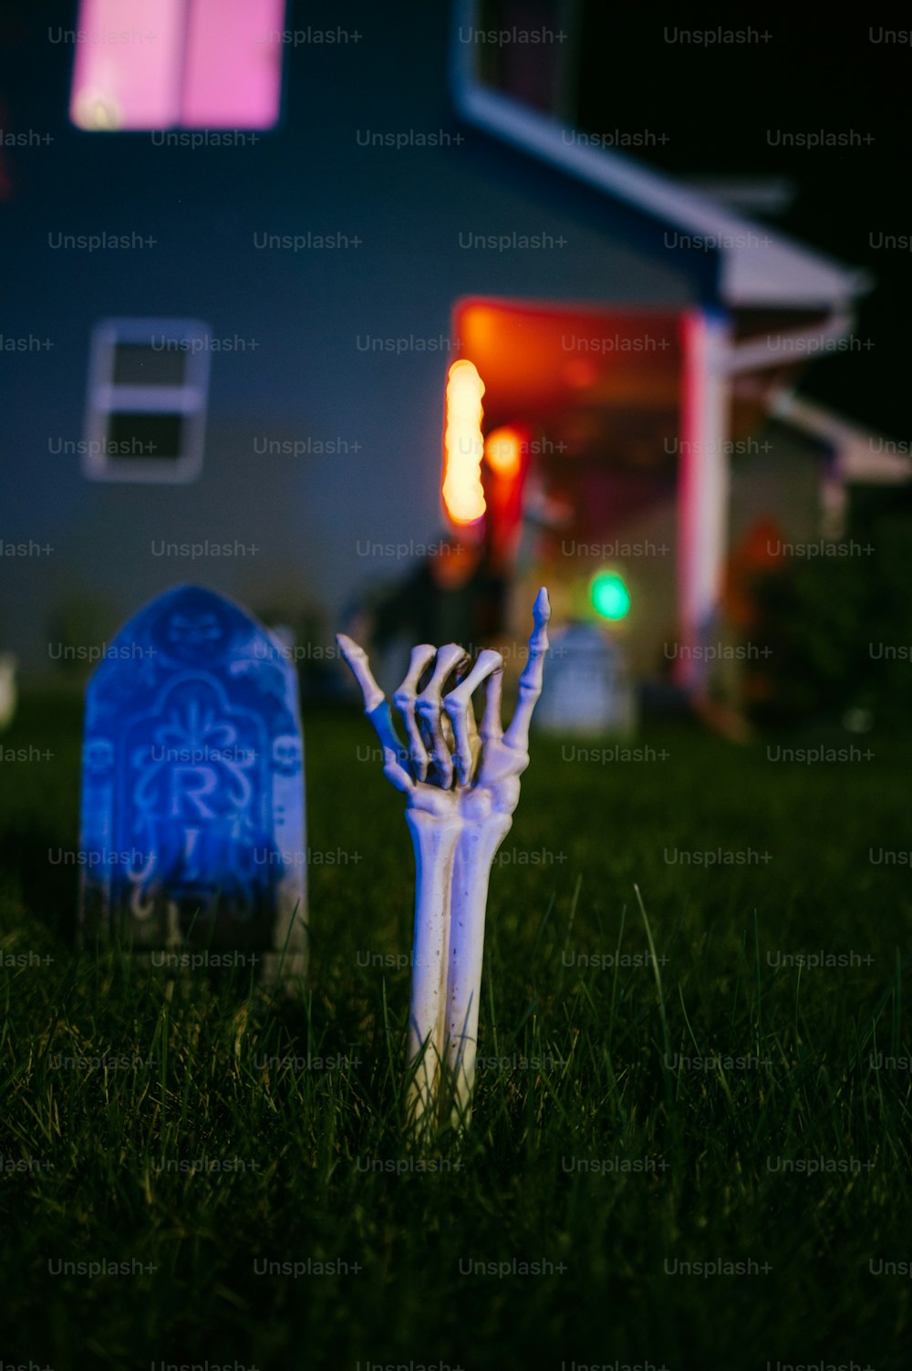
[[[451,1093],[453,1123],[461,1127],[470,1117],[488,877],[513,823],[520,776],[529,765],[529,723],[542,694],[551,617],[544,588],[532,616],[529,657],[506,732],[501,728],[499,653],[481,651],[472,665],[455,643],[439,650],[428,643],[413,647],[406,679],[392,696],[406,728],[407,749],[373,679],[368,654],[344,633],[337,636],[361,686],[365,714],[383,744],[384,776],[406,795],[416,854],[409,1063],[417,1065],[409,1115],[421,1130],[433,1119],[442,1073]],[[418,691],[432,662],[431,676]],[[457,684],[444,695],[454,673]],[[479,729],[472,695],[483,681],[485,702]]]

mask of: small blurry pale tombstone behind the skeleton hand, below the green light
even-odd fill
[[[550,638],[535,727],[564,735],[631,733],[636,705],[620,644],[594,624],[568,624]]]

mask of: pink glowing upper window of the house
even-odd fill
[[[80,129],[272,129],[285,0],[80,0]]]

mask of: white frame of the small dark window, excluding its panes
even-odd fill
[[[180,385],[114,381],[117,348],[167,343],[185,358]],[[185,485],[203,468],[208,398],[210,329],[199,319],[101,319],[92,330],[82,474],[92,481]],[[177,458],[118,457],[106,451],[111,414],[180,414]]]

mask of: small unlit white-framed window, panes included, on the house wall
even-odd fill
[[[193,481],[203,465],[208,329],[103,319],[92,335],[82,472],[95,481]]]

